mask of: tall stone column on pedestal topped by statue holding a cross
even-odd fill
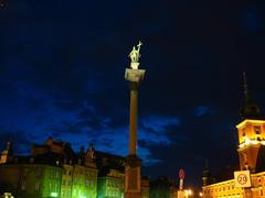
[[[139,51],[141,43],[134,46],[130,53],[130,67],[125,70],[125,79],[130,82],[130,127],[129,127],[129,154],[125,168],[125,198],[141,198],[141,162],[137,157],[137,109],[138,109],[138,88],[144,79],[145,70],[138,69]]]

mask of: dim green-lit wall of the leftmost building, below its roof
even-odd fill
[[[20,198],[59,197],[63,169],[50,165],[4,164],[0,167],[3,193]]]

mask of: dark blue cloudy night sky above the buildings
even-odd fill
[[[205,158],[236,164],[244,70],[265,109],[264,0],[0,0],[0,148],[53,136],[126,155],[124,73],[139,40],[142,174],[183,167],[189,186]]]

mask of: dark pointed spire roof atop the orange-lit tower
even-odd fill
[[[241,120],[245,119],[261,119],[261,109],[257,105],[255,105],[250,97],[250,90],[247,87],[246,75],[243,73],[244,80],[244,105],[240,110]]]

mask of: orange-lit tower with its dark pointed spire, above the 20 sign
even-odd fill
[[[265,145],[265,120],[259,108],[251,100],[244,77],[244,106],[241,108],[241,122],[236,125],[239,132],[240,168],[256,172],[258,152]]]

